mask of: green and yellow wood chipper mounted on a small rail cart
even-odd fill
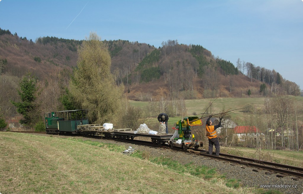
[[[200,146],[203,146],[203,143],[200,143],[199,140],[195,139],[195,135],[191,133],[191,126],[203,125],[203,122],[199,117],[185,117],[182,120],[179,120],[176,123],[176,128],[174,135],[169,140],[171,147],[180,147],[183,150],[188,148],[197,149]]]

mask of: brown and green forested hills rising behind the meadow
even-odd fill
[[[214,57],[201,45],[163,41],[155,48],[127,40],[104,40],[112,58],[117,85],[124,84],[131,100],[197,99],[212,97],[261,97],[300,95],[294,82],[275,70],[251,62]],[[15,115],[19,82],[31,72],[37,80],[41,112],[62,110],[73,68],[77,68],[81,40],[38,37],[35,41],[0,28],[0,109]]]

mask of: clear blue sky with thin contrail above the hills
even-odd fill
[[[303,0],[0,0],[0,28],[38,37],[200,44],[279,72],[303,89]],[[0,54],[1,55],[1,54]]]

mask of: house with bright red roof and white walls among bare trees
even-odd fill
[[[257,137],[264,136],[255,126],[237,126],[234,128],[234,132],[240,141],[256,140]]]

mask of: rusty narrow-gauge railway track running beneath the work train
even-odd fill
[[[9,132],[16,132],[16,133],[46,133],[46,132],[35,132],[35,131],[9,131]],[[75,134],[60,134],[63,136],[82,136],[82,135],[75,135]],[[149,147],[157,147],[157,148],[163,148],[163,149],[170,149],[178,152],[186,152],[191,153],[199,156],[209,157],[213,159],[223,160],[226,162],[231,162],[235,164],[241,164],[248,167],[255,167],[258,169],[264,169],[275,173],[281,173],[291,176],[296,176],[297,178],[292,179],[301,179],[303,178],[303,168],[296,167],[296,166],[288,166],[284,164],[278,164],[273,162],[267,162],[263,160],[257,160],[253,158],[245,158],[241,156],[234,156],[230,154],[220,153],[220,156],[215,155],[209,155],[206,153],[205,150],[182,150],[178,148],[171,148],[168,145],[154,145],[151,142],[148,141],[142,141],[142,140],[119,140],[117,138],[105,138],[103,136],[83,136],[83,137],[90,137],[93,139],[106,139],[106,140],[114,140],[118,142],[124,142],[124,143],[132,143],[132,144],[138,144],[143,146],[149,146]],[[266,166],[267,165],[267,166]]]

